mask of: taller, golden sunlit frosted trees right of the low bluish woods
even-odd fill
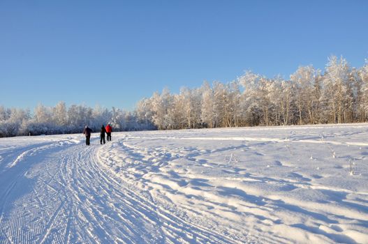
[[[143,99],[138,116],[159,129],[356,123],[368,120],[368,62],[352,68],[330,56],[325,72],[302,66],[290,79],[246,72],[232,82],[207,82],[179,94]]]

